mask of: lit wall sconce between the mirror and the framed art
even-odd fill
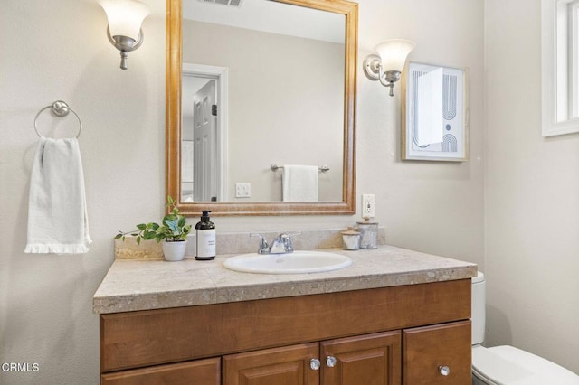
[[[394,82],[400,80],[406,57],[416,44],[409,40],[391,39],[376,45],[377,55],[368,55],[364,60],[365,76],[370,80],[380,80],[384,87],[390,87],[394,96]]]

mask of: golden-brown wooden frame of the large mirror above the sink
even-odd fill
[[[185,0],[194,1],[194,0]],[[342,202],[181,202],[182,0],[166,0],[166,194],[187,216],[354,214],[356,184],[357,4],[346,0],[275,0],[346,16]]]

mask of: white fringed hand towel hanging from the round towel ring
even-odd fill
[[[41,137],[30,177],[24,252],[80,254],[91,242],[79,142]]]

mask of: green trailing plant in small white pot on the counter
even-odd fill
[[[127,234],[137,237],[137,243],[141,239],[157,240],[159,243],[163,240],[163,255],[166,260],[182,260],[185,257],[185,248],[187,247],[187,235],[191,231],[191,225],[183,215],[179,214],[175,200],[169,195],[166,197],[165,207],[169,208],[170,213],[163,218],[161,224],[155,222],[140,223],[137,230],[121,231],[115,236],[115,239],[125,240]]]

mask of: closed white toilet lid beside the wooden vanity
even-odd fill
[[[501,385],[579,385],[574,372],[513,346],[472,349],[472,368]]]

